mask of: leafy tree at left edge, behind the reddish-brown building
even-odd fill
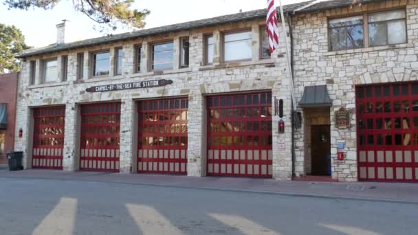
[[[19,60],[15,58],[24,49],[29,49],[25,44],[25,36],[17,27],[0,23],[0,74],[7,71],[19,71]]]

